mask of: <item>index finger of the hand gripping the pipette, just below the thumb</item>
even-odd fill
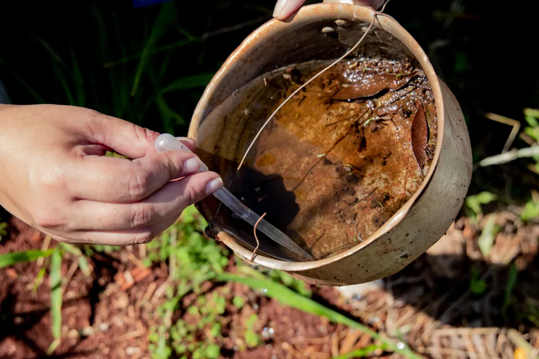
[[[84,157],[70,166],[66,181],[75,199],[109,203],[142,200],[167,182],[195,173],[201,161],[189,151],[164,151],[133,161]]]

